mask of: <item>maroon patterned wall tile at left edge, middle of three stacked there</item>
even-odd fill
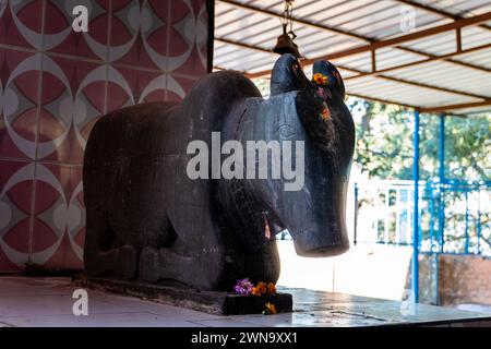
[[[40,55],[0,48],[0,156],[34,158]]]

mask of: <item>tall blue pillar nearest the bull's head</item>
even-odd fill
[[[412,207],[412,297],[419,302],[419,111],[415,111],[415,145],[412,158],[412,178],[415,196]]]

